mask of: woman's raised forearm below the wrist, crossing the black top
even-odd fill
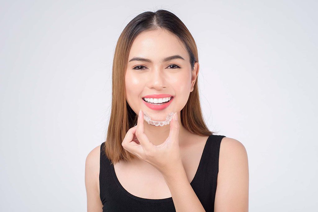
[[[182,162],[170,173],[163,174],[163,177],[170,189],[176,212],[205,212],[189,183]]]

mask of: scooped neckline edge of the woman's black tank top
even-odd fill
[[[210,140],[211,136],[213,136],[213,135],[210,135],[210,136],[208,137],[208,139],[206,140],[206,142],[205,142],[204,149],[203,149],[203,152],[202,152],[202,155],[201,155],[201,158],[200,158],[200,162],[199,162],[197,171],[196,171],[196,173],[195,173],[195,175],[194,175],[192,181],[190,182],[191,187],[193,187],[193,183],[196,182],[197,176],[199,175],[199,172],[200,172],[200,170],[201,170],[201,166],[202,166],[202,163],[203,163],[204,153],[206,152],[207,143],[208,143],[208,141]],[[117,186],[121,189],[121,191],[123,191],[126,195],[130,196],[131,198],[133,198],[133,199],[135,199],[135,200],[142,201],[142,202],[169,202],[169,201],[172,201],[172,196],[171,196],[171,197],[168,197],[168,198],[163,198],[163,199],[148,199],[148,198],[142,198],[142,197],[139,197],[139,196],[135,196],[135,195],[129,193],[129,192],[121,185],[121,183],[119,182],[119,180],[118,180],[118,178],[117,178],[117,176],[116,176],[114,164],[110,164],[110,167],[111,167],[111,172],[112,172],[113,178],[114,178],[114,180],[115,180]]]

